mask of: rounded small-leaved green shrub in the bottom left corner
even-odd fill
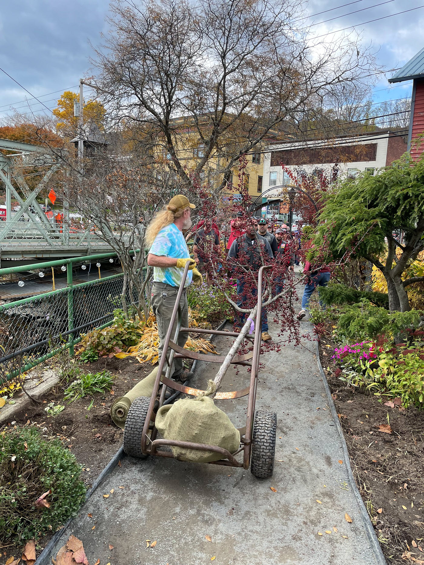
[[[55,532],[84,502],[81,466],[58,440],[36,428],[0,434],[0,542],[24,544]],[[42,494],[49,507],[36,506]]]

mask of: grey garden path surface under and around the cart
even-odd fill
[[[310,323],[302,321],[301,333],[308,331]],[[270,333],[278,333],[274,324]],[[216,345],[227,351],[230,340],[218,338]],[[125,458],[63,533],[57,550],[73,533],[84,542],[90,564],[198,565],[214,557],[214,564],[237,565],[377,564],[314,351],[314,342],[305,340],[261,357],[256,408],[278,418],[271,479],[231,467]],[[198,364],[193,385],[206,388],[218,367]],[[238,375],[232,368],[223,390],[243,388],[248,379],[245,368]],[[245,425],[247,397],[218,405],[236,427]],[[146,540],[157,545],[146,549]]]

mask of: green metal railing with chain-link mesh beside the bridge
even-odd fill
[[[81,333],[113,322],[113,311],[120,304],[123,273],[73,284],[74,264],[112,257],[116,254],[102,253],[0,269],[0,276],[63,265],[67,269],[65,288],[0,306],[0,383],[64,349],[72,356]],[[145,270],[140,276],[145,276]],[[126,294],[129,300],[128,289]]]

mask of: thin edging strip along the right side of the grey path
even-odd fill
[[[324,383],[324,387],[325,387],[326,393],[327,393],[328,404],[330,405],[330,408],[331,408],[331,414],[333,416],[336,428],[338,429],[338,432],[339,432],[341,445],[343,447],[343,453],[344,453],[344,456],[345,456],[345,461],[347,462],[347,471],[348,471],[349,483],[351,484],[351,488],[353,490],[353,493],[354,493],[354,495],[355,495],[355,497],[358,501],[358,505],[359,505],[359,509],[360,509],[362,518],[364,519],[365,532],[366,532],[367,538],[370,542],[370,545],[373,549],[373,553],[375,555],[375,559],[377,560],[377,563],[379,563],[379,565],[387,565],[386,559],[384,559],[383,551],[382,551],[381,546],[380,546],[380,542],[378,541],[378,538],[377,538],[377,534],[375,533],[373,524],[371,523],[371,520],[370,520],[370,516],[369,516],[369,514],[368,514],[368,512],[365,508],[364,501],[362,500],[361,494],[360,494],[358,487],[356,485],[356,481],[353,477],[353,472],[352,472],[352,467],[351,467],[351,459],[349,457],[349,452],[348,452],[348,446],[346,445],[346,440],[344,438],[343,429],[341,429],[339,416],[337,415],[337,410],[336,410],[336,407],[334,406],[333,398],[331,396],[330,386],[328,386],[327,377],[325,375],[325,372],[323,371],[321,359],[319,358],[318,341],[315,341],[315,347],[316,347],[316,350],[317,350],[317,364],[318,364],[319,373],[322,376],[322,381]]]

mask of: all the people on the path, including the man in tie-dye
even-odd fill
[[[249,309],[249,301],[257,296],[257,288],[252,285],[252,273],[257,273],[263,264],[263,258],[268,262],[276,262],[282,268],[272,280],[272,294],[278,295],[284,288],[285,278],[289,270],[293,271],[295,264],[300,263],[300,239],[297,233],[292,233],[287,225],[278,225],[266,218],[256,216],[246,217],[242,211],[237,212],[230,221],[231,232],[226,237],[221,233],[214,218],[200,221],[194,228],[191,210],[194,205],[188,198],[179,194],[171,198],[164,210],[158,212],[146,230],[146,245],[149,247],[148,265],[153,270],[152,308],[157,319],[159,340],[163,346],[167,329],[170,324],[172,310],[180,286],[184,267],[189,263],[189,272],[185,281],[185,289],[193,282],[203,282],[205,273],[206,283],[210,285],[213,272],[218,272],[219,257],[227,254],[227,269],[235,273],[237,279],[237,305]],[[187,235],[184,237],[184,233]],[[193,241],[193,258],[190,257],[187,242]],[[212,260],[214,258],[214,261]],[[218,261],[215,260],[218,258]],[[326,286],[330,279],[330,270],[325,267],[312,271],[308,262],[304,272],[310,272],[302,298],[302,308],[297,318],[301,320],[306,315],[310,295],[317,286]],[[184,289],[180,299],[183,312],[182,323],[188,325],[187,293]],[[236,328],[241,329],[248,314],[237,312]],[[262,308],[262,341],[271,340],[269,334],[267,311]],[[181,333],[178,345],[184,346],[186,333]],[[162,353],[159,346],[159,356]],[[180,359],[174,362],[173,378],[184,381],[183,364]]]

